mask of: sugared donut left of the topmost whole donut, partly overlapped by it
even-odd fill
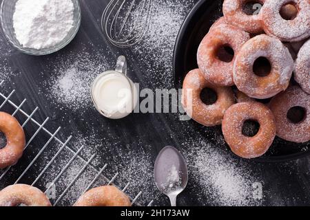
[[[233,65],[235,56],[219,57],[219,52],[228,47],[238,54],[242,45],[249,40],[249,34],[233,25],[221,24],[205,36],[198,47],[197,61],[205,78],[219,87],[234,85]]]

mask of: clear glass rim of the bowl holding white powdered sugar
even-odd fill
[[[78,23],[76,25],[76,28],[74,29],[74,32],[71,34],[70,38],[68,38],[67,41],[61,41],[59,43],[60,46],[54,47],[52,50],[49,49],[50,47],[42,48],[40,50],[27,48],[27,47],[19,47],[10,39],[10,36],[8,36],[8,33],[6,32],[6,30],[4,28],[3,4],[6,1],[10,1],[10,0],[3,0],[1,2],[1,6],[0,6],[0,22],[1,22],[1,28],[2,28],[3,34],[6,36],[6,39],[9,41],[9,43],[10,43],[10,45],[12,45],[12,47],[19,50],[20,52],[23,52],[24,54],[29,54],[29,55],[33,55],[33,56],[43,56],[43,55],[53,54],[54,52],[58,52],[59,50],[63,49],[63,47],[65,47],[69,43],[71,43],[71,41],[75,38],[76,34],[79,32],[79,28],[81,26],[81,4],[80,4],[79,0],[71,0],[72,2],[73,1],[76,2],[76,5],[77,5],[76,10],[77,10],[79,16],[78,16]],[[31,49],[32,51],[30,51],[28,49]]]

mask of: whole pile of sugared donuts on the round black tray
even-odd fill
[[[182,104],[196,122],[222,124],[236,155],[264,155],[276,135],[310,140],[310,0],[225,0],[224,17],[211,26],[197,52],[198,69],[183,82]],[[254,4],[255,5],[255,4]],[[205,103],[205,88],[216,92]],[[244,125],[259,125],[254,135]]]

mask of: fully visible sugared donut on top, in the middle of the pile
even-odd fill
[[[267,76],[256,73],[254,68],[261,58],[270,64]],[[287,89],[293,69],[293,58],[281,41],[261,34],[247,41],[236,56],[234,82],[251,98],[271,98]]]

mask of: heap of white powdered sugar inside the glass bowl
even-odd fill
[[[61,43],[73,27],[71,0],[19,0],[13,27],[23,47],[40,50]]]

